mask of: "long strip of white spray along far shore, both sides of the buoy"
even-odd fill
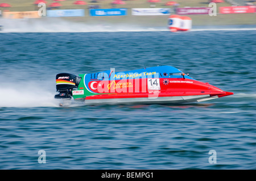
[[[56,23],[57,22],[57,23]],[[139,24],[106,22],[70,22],[59,18],[42,19],[0,19],[2,33],[12,32],[152,32],[169,31],[167,26],[143,27]],[[255,26],[193,27],[195,31],[255,31]],[[189,31],[188,31],[189,32]]]

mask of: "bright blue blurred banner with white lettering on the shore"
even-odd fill
[[[127,9],[90,9],[90,16],[123,16],[127,15]]]

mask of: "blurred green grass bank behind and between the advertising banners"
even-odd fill
[[[9,3],[12,7],[1,8],[9,11],[34,11],[38,10],[38,7],[34,5],[35,0],[0,0],[0,3]],[[47,1],[47,0],[46,0]],[[58,9],[85,9],[85,17],[65,17],[62,19],[72,20],[75,22],[84,23],[133,23],[141,24],[144,26],[167,26],[167,15],[163,16],[132,16],[131,8],[149,8],[151,3],[147,0],[130,0],[125,1],[126,5],[115,5],[116,8],[127,8],[127,16],[89,16],[88,7],[90,5],[99,5],[101,9],[112,8],[111,2],[113,0],[97,0],[92,2],[91,0],[85,0],[87,5],[73,5],[76,0],[60,1],[61,7]],[[172,7],[165,6],[165,3],[172,0],[162,0],[160,3],[155,3],[155,7]],[[53,0],[47,1],[47,7]],[[177,0],[179,7],[208,7],[208,0]],[[229,3],[217,3],[218,7],[231,6]],[[217,14],[217,16],[209,15],[188,15],[193,20],[193,26],[216,26],[216,25],[232,25],[232,24],[256,24],[256,14]]]

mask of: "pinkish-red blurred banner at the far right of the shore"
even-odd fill
[[[253,13],[256,12],[256,6],[229,6],[220,7],[221,14],[231,14],[231,13]]]

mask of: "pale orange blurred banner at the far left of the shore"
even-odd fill
[[[41,16],[38,15],[38,11],[22,11],[22,12],[4,11],[3,18],[22,19],[22,18],[41,18]]]

